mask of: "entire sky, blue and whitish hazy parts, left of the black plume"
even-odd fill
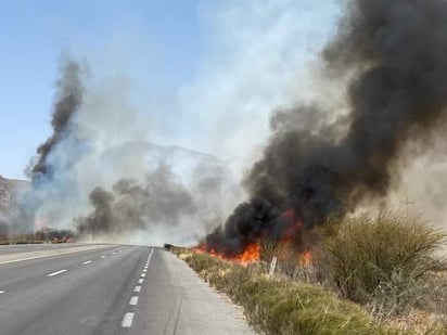
[[[154,142],[252,157],[269,112],[309,90],[304,69],[337,13],[335,0],[0,0],[0,175],[26,178],[51,134],[67,53],[97,89],[125,78]]]

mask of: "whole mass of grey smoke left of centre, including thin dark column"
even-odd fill
[[[63,63],[53,134],[38,149],[33,189],[21,199],[15,229],[75,222],[82,236],[159,244],[174,228],[175,242],[191,243],[215,227],[239,192],[225,163],[152,144],[150,125],[119,95],[120,82],[111,91],[81,79],[78,63]]]

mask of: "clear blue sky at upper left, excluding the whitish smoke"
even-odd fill
[[[274,1],[259,1],[268,2]],[[309,8],[312,1],[297,1],[298,13],[303,14],[296,20],[314,17],[312,11],[333,17],[333,1],[322,2]],[[238,7],[238,1],[232,2],[233,7],[234,3]],[[226,27],[225,21],[235,17],[243,27],[243,8],[247,3],[235,14],[230,8],[220,15],[226,1],[0,0],[0,173],[24,178],[28,159],[51,133],[51,104],[62,52],[86,60],[95,75],[111,75],[111,69],[114,74],[125,73],[149,88],[151,95],[166,98],[184,90],[190,82],[200,86],[202,77],[212,77],[216,62],[209,60],[219,57],[220,52],[228,53],[226,48],[232,48],[232,35],[238,34],[231,25]],[[284,10],[285,5],[279,8]],[[256,8],[252,14],[253,25],[264,27],[254,17]],[[217,17],[220,27],[209,24],[213,17]],[[318,26],[331,24],[318,22]],[[259,29],[268,31],[269,26],[266,27]],[[214,28],[226,35],[216,34]],[[321,31],[316,36],[323,36]],[[227,57],[228,62],[231,60]],[[207,86],[206,80],[203,86]]]

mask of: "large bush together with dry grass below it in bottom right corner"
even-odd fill
[[[393,212],[328,223],[319,262],[340,296],[403,333],[447,334],[445,232]]]

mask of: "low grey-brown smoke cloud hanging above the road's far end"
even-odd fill
[[[157,224],[175,227],[196,211],[189,191],[164,165],[142,182],[122,179],[112,192],[95,188],[89,197],[93,211],[76,221],[79,233],[93,237],[119,236]]]

